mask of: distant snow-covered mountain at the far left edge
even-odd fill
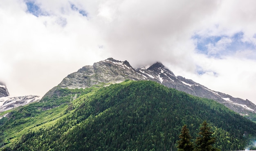
[[[0,82],[0,112],[24,106],[32,102],[38,102],[41,98],[42,97],[38,95],[26,95],[18,97],[9,96],[6,85]]]

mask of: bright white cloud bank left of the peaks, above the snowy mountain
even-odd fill
[[[0,9],[0,78],[11,94],[43,95],[67,74],[103,59],[99,34],[83,16],[37,18],[20,4]]]

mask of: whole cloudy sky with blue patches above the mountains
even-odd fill
[[[0,0],[0,81],[44,95],[107,58],[256,103],[255,0]]]

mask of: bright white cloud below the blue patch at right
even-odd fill
[[[202,81],[202,84],[209,85],[211,89],[255,102],[255,60],[244,60],[233,57],[202,59],[202,56],[200,56],[200,60],[198,61],[205,70],[211,69],[218,76],[203,74],[198,76],[198,78],[195,77],[195,79]]]

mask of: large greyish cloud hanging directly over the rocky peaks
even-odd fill
[[[112,5],[112,22],[101,28],[106,49],[117,58],[129,59],[135,66],[148,60],[183,64],[181,60],[193,53],[189,40],[194,28],[216,5],[204,1],[122,1]]]

